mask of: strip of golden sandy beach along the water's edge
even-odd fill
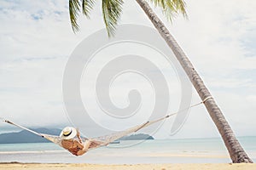
[[[16,169],[28,169],[28,170],[84,170],[84,169],[154,169],[154,170],[189,170],[189,169],[201,169],[201,170],[254,170],[256,164],[231,164],[231,163],[195,163],[195,164],[135,164],[135,165],[103,165],[103,164],[39,164],[39,163],[1,163],[0,169],[16,170]]]

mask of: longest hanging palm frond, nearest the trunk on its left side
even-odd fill
[[[103,19],[108,31],[108,37],[114,35],[122,13],[123,0],[102,0]]]

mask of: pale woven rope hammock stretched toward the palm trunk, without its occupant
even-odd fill
[[[207,97],[206,99],[204,99],[203,101],[201,101],[200,103],[196,104],[196,105],[201,105],[203,103],[205,103],[207,101],[207,99],[212,99],[212,96],[209,96]],[[183,109],[182,111],[184,110],[188,110],[189,108],[192,108],[192,107],[195,107],[196,105],[190,105],[188,108],[186,109]],[[160,122],[170,116],[174,116],[176,115],[178,112],[181,112],[181,111],[177,111],[175,113],[172,113],[170,115],[167,115],[167,116],[164,116],[164,117],[161,117],[157,120],[154,120],[154,121],[148,121],[148,122],[145,122],[141,125],[137,125],[136,127],[131,127],[131,128],[128,128],[126,129],[125,131],[121,131],[121,132],[118,132],[118,133],[112,133],[112,134],[109,134],[109,135],[105,135],[105,136],[101,136],[101,137],[97,137],[97,138],[91,138],[91,139],[85,139],[85,138],[82,138],[82,141],[83,143],[86,142],[86,140],[90,140],[90,146],[89,146],[89,150],[91,149],[95,149],[95,148],[98,148],[98,147],[101,147],[101,146],[105,146],[105,145],[108,145],[110,143],[112,143],[114,140],[117,140],[117,139],[120,139],[124,136],[126,136],[127,134],[130,134],[130,133],[135,133],[137,132],[138,130],[144,128],[144,127],[148,127],[149,125],[152,125],[154,124],[155,122]],[[14,125],[16,127],[20,127],[30,133],[34,133],[38,136],[41,136],[43,137],[44,139],[48,139],[49,141],[55,143],[55,144],[58,144],[62,147],[61,145],[61,138],[59,136],[55,136],[55,135],[50,135],[50,134],[44,134],[44,133],[37,133],[35,131],[32,131],[31,129],[29,128],[26,128],[26,127],[22,127],[14,122],[10,122],[8,120],[4,120],[3,118],[1,118],[3,120],[3,122],[7,122],[11,125]]]

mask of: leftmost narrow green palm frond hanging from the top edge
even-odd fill
[[[79,0],[69,0],[69,17],[73,32],[79,31],[79,24],[77,22],[80,12]]]

